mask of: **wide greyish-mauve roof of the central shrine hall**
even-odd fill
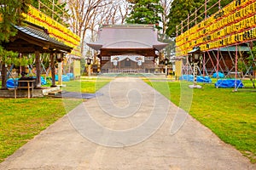
[[[87,45],[95,50],[102,48],[155,48],[161,50],[168,45],[158,41],[157,29],[153,25],[102,26],[98,37],[98,41],[88,42]]]

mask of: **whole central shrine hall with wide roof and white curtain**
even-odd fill
[[[168,45],[158,41],[157,29],[153,25],[102,26],[98,37],[97,42],[87,45],[98,52],[101,67],[108,69],[140,69],[145,65],[154,67],[160,50]]]

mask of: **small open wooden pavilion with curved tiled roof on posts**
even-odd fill
[[[73,48],[57,41],[53,37],[49,37],[44,27],[30,24],[27,26],[15,26],[15,28],[18,33],[15,37],[11,37],[8,43],[3,43],[3,47],[19,54],[35,54],[37,68],[36,88],[41,88],[40,54],[50,54],[52,85],[55,86],[56,55],[70,53]]]

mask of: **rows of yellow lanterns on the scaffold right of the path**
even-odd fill
[[[233,1],[176,38],[176,56],[188,55],[195,46],[202,51],[256,39],[256,2]]]

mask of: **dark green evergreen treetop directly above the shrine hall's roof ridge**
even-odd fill
[[[160,24],[160,13],[163,8],[160,0],[134,0],[130,1],[131,14],[126,18],[128,24],[155,24],[158,28]]]

